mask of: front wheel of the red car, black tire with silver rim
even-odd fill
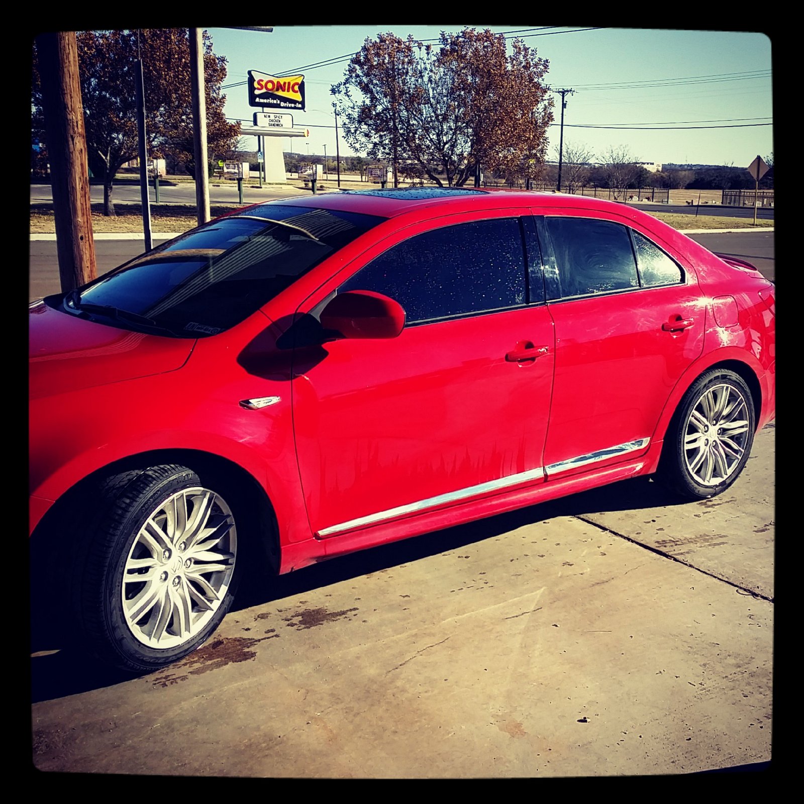
[[[105,662],[158,670],[203,645],[232,605],[236,511],[185,466],[115,475],[96,492],[74,598],[81,629]]]

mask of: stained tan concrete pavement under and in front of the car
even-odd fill
[[[152,675],[35,635],[33,761],[450,778],[767,763],[774,436],[712,500],[622,482],[250,585]]]

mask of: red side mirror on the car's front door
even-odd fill
[[[396,338],[404,327],[399,302],[373,290],[339,293],[322,310],[321,326],[344,338]]]

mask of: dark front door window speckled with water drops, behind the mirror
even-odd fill
[[[398,243],[338,288],[374,290],[403,306],[407,323],[433,321],[527,301],[519,218],[455,224]]]

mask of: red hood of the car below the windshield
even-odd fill
[[[117,383],[187,362],[194,338],[132,332],[53,310],[43,301],[29,307],[31,399]]]

